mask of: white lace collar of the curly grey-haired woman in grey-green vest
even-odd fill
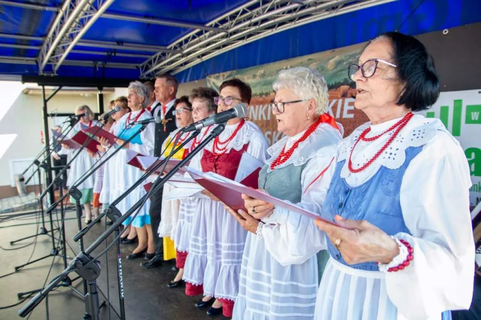
[[[270,165],[279,155],[284,145],[286,146],[286,150],[288,150],[290,147],[292,147],[294,142],[298,140],[302,134],[304,134],[304,132],[305,130],[292,137],[285,136],[269,147],[267,149],[267,153],[270,155],[270,158],[266,161],[266,163]],[[319,152],[319,150],[332,145],[337,145],[341,139],[342,136],[339,130],[333,128],[327,123],[321,123],[316,130],[307,137],[307,139],[299,144],[289,159],[283,164],[276,166],[276,169],[287,167],[290,164],[294,164],[294,166],[301,166],[311,159],[317,152]],[[269,167],[267,172],[270,171],[272,171],[272,169]]]

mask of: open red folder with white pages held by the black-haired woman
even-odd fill
[[[212,192],[224,204],[238,211],[242,209],[245,211],[244,201],[241,198],[242,194],[273,204],[274,206],[283,207],[289,211],[299,213],[314,220],[322,220],[326,223],[339,226],[335,222],[321,218],[317,213],[298,207],[289,202],[283,201],[269,194],[263,193],[253,188],[246,187],[240,183],[221,177],[213,172],[200,172],[196,169],[185,167],[185,171],[189,172],[194,180],[197,181],[203,188]]]

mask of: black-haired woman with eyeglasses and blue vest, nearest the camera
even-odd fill
[[[368,43],[349,78],[370,122],[339,145],[322,207],[316,198],[300,204],[340,226],[311,222],[284,237],[331,255],[315,318],[450,319],[447,310],[468,308],[473,292],[471,182],[441,121],[413,114],[439,96],[433,59],[416,38],[389,32]]]

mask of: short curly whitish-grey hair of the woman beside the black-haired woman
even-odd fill
[[[272,84],[274,91],[282,88],[292,90],[301,99],[314,99],[317,102],[316,114],[327,110],[329,94],[327,83],[319,71],[311,68],[296,67],[281,70]]]

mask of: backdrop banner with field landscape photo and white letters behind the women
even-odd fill
[[[356,96],[355,83],[347,77],[347,67],[356,63],[365,43],[307,56],[281,60],[256,67],[227,71],[207,76],[207,85],[219,91],[222,81],[239,78],[252,88],[252,99],[247,116],[264,132],[271,144],[281,139],[277,131],[276,118],[272,115],[269,103],[274,100],[272,84],[279,71],[294,67],[309,67],[324,76],[329,88],[328,113],[344,127],[344,136],[368,119],[360,110],[354,109]]]

